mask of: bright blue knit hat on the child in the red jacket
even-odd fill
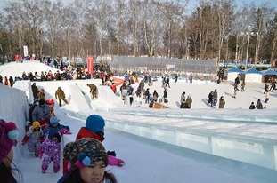
[[[86,118],[86,128],[89,131],[98,132],[102,131],[105,127],[105,121],[100,115],[89,115]]]

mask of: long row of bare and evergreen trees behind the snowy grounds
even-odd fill
[[[272,63],[277,11],[234,0],[17,0],[0,12],[0,52]]]

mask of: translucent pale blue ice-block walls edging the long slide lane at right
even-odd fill
[[[147,112],[148,111],[148,112]],[[161,110],[160,110],[161,111]],[[213,132],[205,130],[193,130],[185,127],[176,127],[159,123],[140,123],[124,117],[124,115],[144,115],[152,117],[167,116],[167,117],[182,117],[183,119],[213,119],[225,120],[230,122],[238,122],[235,119],[240,119],[240,122],[257,123],[274,123],[273,119],[267,116],[267,119],[260,119],[259,116],[241,115],[232,118],[224,115],[197,115],[197,114],[180,114],[172,113],[167,110],[160,111],[125,111],[111,110],[109,114],[117,114],[121,116],[121,120],[114,119],[105,115],[106,127],[125,131],[143,138],[158,140],[178,147],[185,147],[192,150],[200,151],[210,155],[217,155],[224,158],[240,161],[242,163],[250,163],[268,169],[277,170],[277,140],[263,139],[257,137],[247,137],[223,132]],[[86,119],[87,115],[69,112],[69,115],[75,115],[78,118]],[[216,118],[217,117],[217,118]]]

